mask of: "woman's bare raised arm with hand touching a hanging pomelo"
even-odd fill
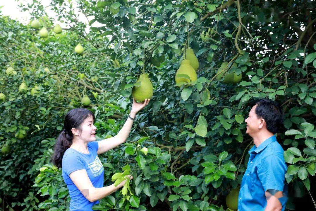
[[[130,113],[131,117],[135,118],[137,112],[143,109],[146,105],[148,105],[149,101],[150,99],[146,99],[143,103],[137,103],[135,99],[133,99],[132,109]],[[124,126],[121,128],[121,130],[116,136],[99,141],[99,148],[97,153],[102,154],[124,143],[131,132],[132,125],[133,120],[128,118]]]

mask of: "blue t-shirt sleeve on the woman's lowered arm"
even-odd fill
[[[69,176],[70,173],[80,169],[86,169],[86,167],[84,161],[78,154],[68,153],[63,160],[62,169]]]

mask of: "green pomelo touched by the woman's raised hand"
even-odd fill
[[[144,102],[145,99],[151,99],[154,94],[154,88],[151,84],[148,74],[141,74],[136,83],[137,82],[141,82],[141,85],[133,87],[132,96],[134,97],[134,99],[140,102]]]

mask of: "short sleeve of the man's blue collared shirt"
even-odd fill
[[[257,171],[264,191],[268,189],[283,191],[286,170],[284,159],[276,155],[264,158]]]

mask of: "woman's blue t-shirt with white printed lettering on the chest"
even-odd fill
[[[64,181],[69,189],[70,211],[92,211],[94,204],[99,203],[99,200],[89,202],[69,177],[71,172],[85,169],[93,186],[95,188],[103,187],[104,167],[97,154],[98,147],[99,143],[92,141],[88,143],[89,154],[76,151],[72,148],[67,149],[64,153],[62,172]]]

